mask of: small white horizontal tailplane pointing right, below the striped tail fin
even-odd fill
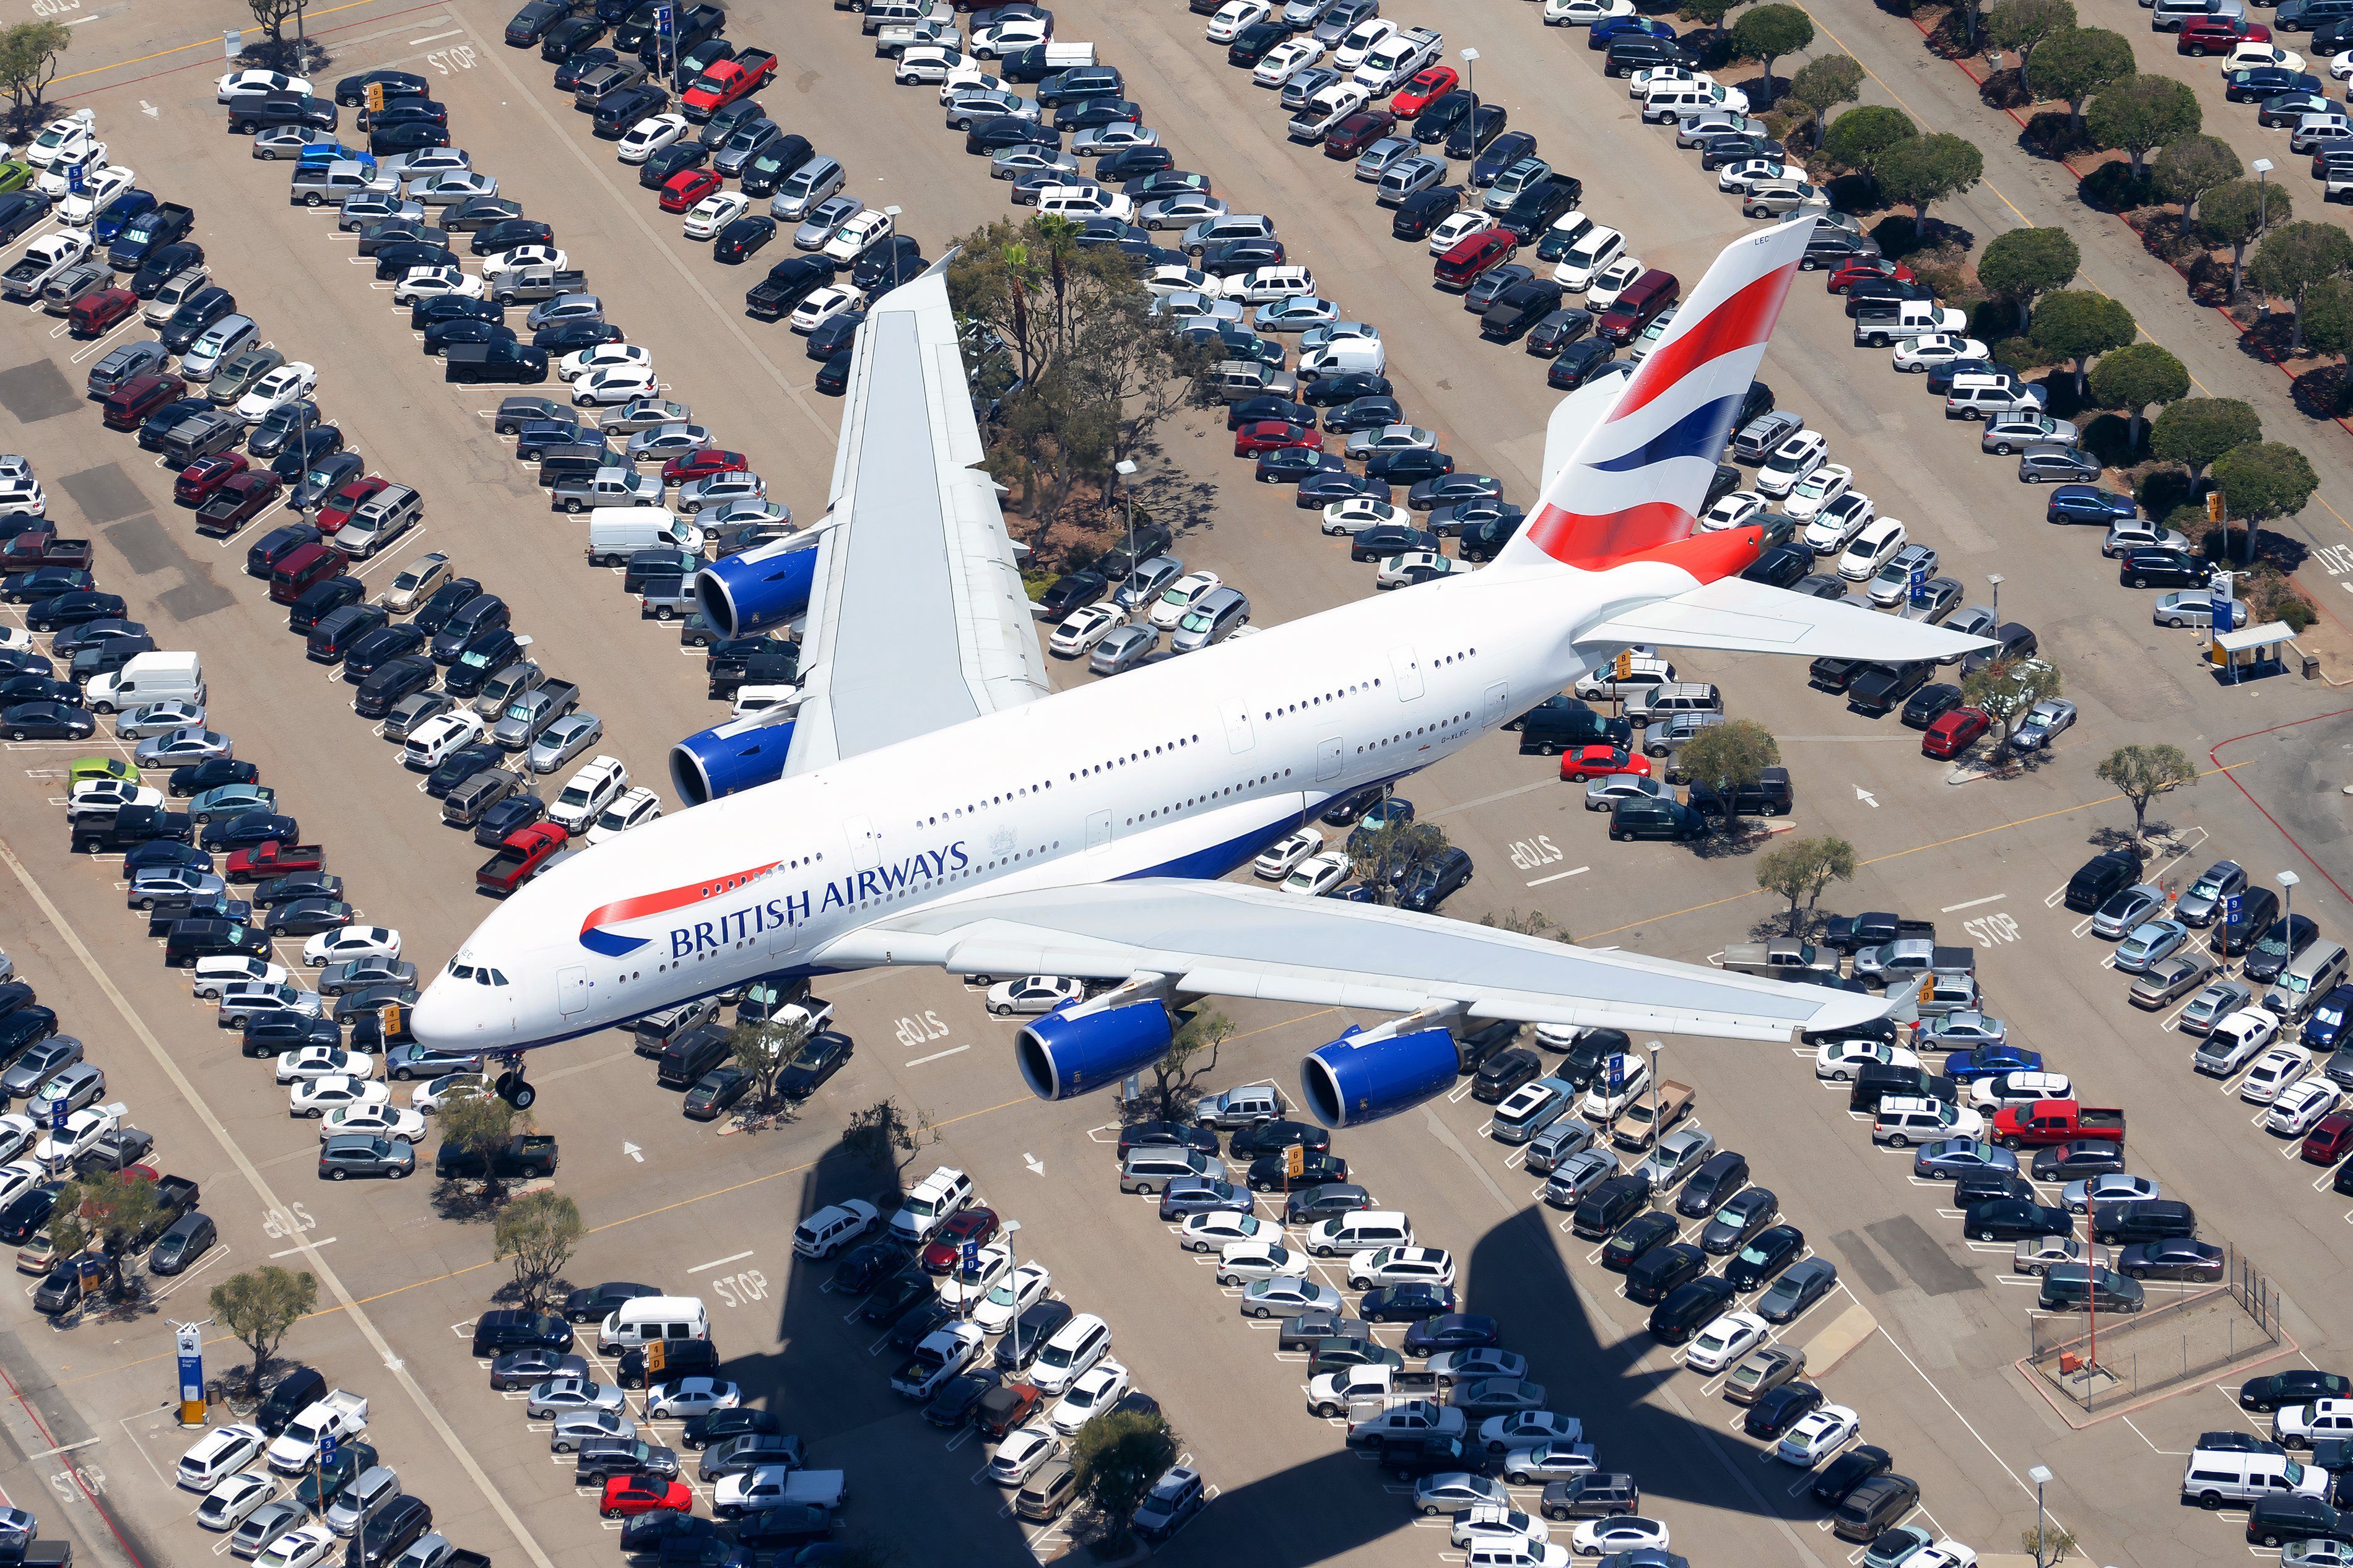
[[[1795,654],[1798,658],[1868,658],[1913,663],[1958,658],[1991,649],[1984,637],[1948,632],[1927,621],[1814,599],[1746,578],[1718,578],[1673,599],[1640,604],[1577,639],[1595,644],[1652,644],[1666,649],[1713,649],[1722,654]]]

